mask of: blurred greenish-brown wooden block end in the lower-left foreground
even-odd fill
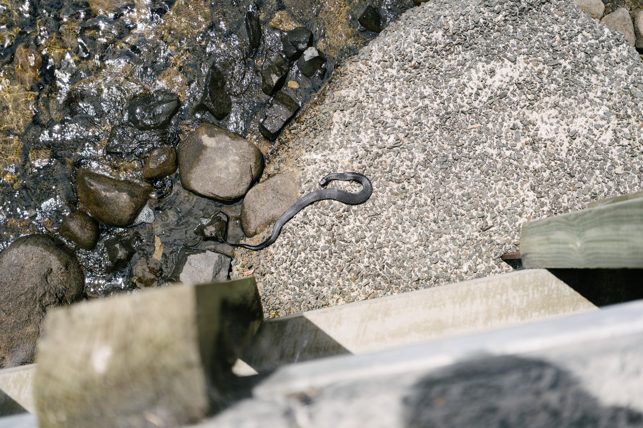
[[[176,427],[226,402],[263,318],[254,278],[52,311],[37,352],[40,427]]]

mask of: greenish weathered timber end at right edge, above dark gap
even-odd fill
[[[643,198],[523,223],[525,268],[643,268]]]

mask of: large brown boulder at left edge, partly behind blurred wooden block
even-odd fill
[[[0,253],[0,368],[32,363],[45,312],[77,302],[84,286],[76,256],[50,235],[20,237]]]

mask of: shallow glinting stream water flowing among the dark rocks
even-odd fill
[[[412,0],[372,3],[383,24]],[[143,181],[141,167],[154,148],[176,146],[203,121],[253,141],[268,155],[271,143],[257,130],[271,99],[260,88],[260,65],[282,49],[279,30],[305,26],[325,53],[326,73],[312,78],[291,67],[287,87],[304,105],[334,67],[376,37],[362,28],[363,0],[0,0],[0,250],[33,232],[56,233],[77,209],[78,167]],[[262,42],[248,46],[244,15],[258,14]],[[201,105],[204,81],[216,64],[227,73],[231,112],[221,121]],[[181,107],[162,132],[127,127],[127,104],[143,94],[174,92]],[[118,150],[106,150],[114,146]],[[203,241],[194,229],[216,210],[230,216],[230,239],[242,232],[242,201],[224,205],[181,187],[178,174],[151,182],[152,223],[101,226],[95,250],[76,248],[86,270],[87,295],[100,296],[163,284],[176,278],[181,252],[225,244]],[[149,212],[148,212],[149,214]],[[149,220],[148,220],[149,221]],[[127,239],[134,253],[111,271],[107,239]]]

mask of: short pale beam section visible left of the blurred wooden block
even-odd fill
[[[35,369],[35,364],[27,364],[0,370],[0,416],[35,411],[32,395]]]

